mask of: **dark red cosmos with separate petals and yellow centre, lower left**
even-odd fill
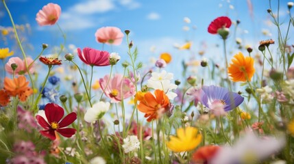
[[[69,113],[63,118],[64,109],[62,109],[59,105],[49,103],[45,106],[45,115],[48,122],[45,118],[42,118],[42,116],[36,115],[36,119],[40,126],[45,128],[45,131],[40,131],[41,135],[55,140],[55,131],[64,137],[71,137],[77,131],[75,128],[64,128],[77,119],[77,114],[75,112]],[[62,118],[63,120],[61,120]]]

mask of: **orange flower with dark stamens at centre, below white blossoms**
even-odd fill
[[[169,110],[169,98],[164,94],[162,90],[156,90],[154,92],[155,97],[151,92],[144,94],[143,100],[140,100],[138,110],[145,113],[147,122],[160,118],[162,113]]]

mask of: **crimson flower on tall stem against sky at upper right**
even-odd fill
[[[220,16],[213,20],[208,26],[208,32],[212,34],[217,34],[217,30],[222,27],[230,28],[232,21],[227,16]]]

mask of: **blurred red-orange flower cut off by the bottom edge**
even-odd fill
[[[202,146],[193,153],[192,159],[196,163],[206,164],[219,152],[219,146]]]

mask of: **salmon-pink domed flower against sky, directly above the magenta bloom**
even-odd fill
[[[117,27],[101,27],[95,33],[97,42],[119,45],[123,41],[123,33]]]

